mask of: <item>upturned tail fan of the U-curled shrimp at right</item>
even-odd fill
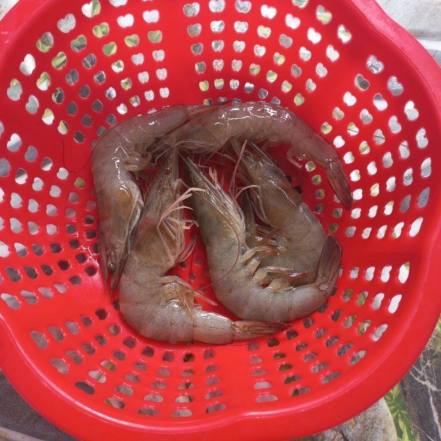
[[[332,294],[341,265],[341,246],[334,235],[328,235],[322,250],[314,285],[326,292],[326,297]]]

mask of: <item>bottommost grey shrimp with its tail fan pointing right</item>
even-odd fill
[[[132,251],[120,282],[122,317],[139,334],[169,342],[198,340],[226,344],[287,329],[283,323],[233,322],[194,303],[197,295],[180,277],[166,275],[190,252],[185,245],[184,201],[177,152],[149,189]],[[198,191],[198,189],[196,189]]]

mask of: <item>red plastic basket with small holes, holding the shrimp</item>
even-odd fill
[[[440,71],[374,0],[21,0],[0,26],[0,364],[39,412],[84,439],[288,439],[403,376],[440,313]],[[90,145],[221,97],[281,102],[338,148],[352,211],[286,166],[341,242],[338,289],[270,339],[149,341],[103,288]]]

